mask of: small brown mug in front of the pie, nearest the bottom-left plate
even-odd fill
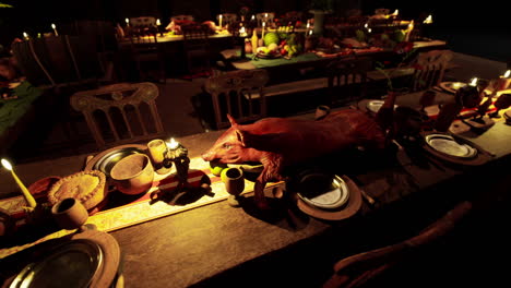
[[[82,227],[88,218],[88,212],[82,203],[73,197],[57,202],[51,207],[51,215],[59,227],[72,230]]]

